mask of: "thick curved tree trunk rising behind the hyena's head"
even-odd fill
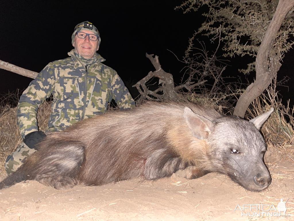
[[[255,69],[256,80],[251,83],[240,96],[233,115],[244,118],[245,112],[250,103],[257,98],[270,85],[277,73],[269,70],[268,57],[283,20],[287,13],[294,6],[294,0],[280,0],[275,14],[265,32],[264,38],[257,52]]]

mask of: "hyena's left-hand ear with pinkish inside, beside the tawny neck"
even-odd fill
[[[194,113],[190,108],[185,107],[184,118],[194,137],[205,140],[213,130],[214,124],[199,114]]]

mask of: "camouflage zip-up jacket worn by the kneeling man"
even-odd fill
[[[84,118],[105,113],[108,102],[115,100],[118,107],[131,108],[135,102],[115,70],[97,62],[85,66],[71,57],[49,63],[33,80],[19,99],[17,124],[21,136],[38,131],[37,110],[53,94],[49,131],[60,131]]]

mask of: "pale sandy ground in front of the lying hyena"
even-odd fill
[[[262,192],[246,192],[216,173],[193,180],[173,175],[157,181],[78,185],[64,191],[36,181],[19,183],[0,190],[0,220],[294,220],[294,165],[288,160],[268,165],[272,183]],[[242,216],[244,204],[277,208],[280,198],[289,198],[286,217],[248,217],[248,209]]]

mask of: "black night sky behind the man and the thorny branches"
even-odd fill
[[[93,6],[93,2],[97,6]],[[182,76],[181,58],[188,38],[201,24],[201,13],[183,14],[174,10],[182,1],[1,1],[0,60],[39,72],[49,62],[68,57],[73,47],[71,34],[76,24],[92,22],[101,35],[98,53],[104,64],[118,72],[128,88],[149,71],[151,62],[145,53],[159,56],[161,66]],[[208,43],[210,44],[210,43]],[[290,52],[278,75],[294,78]],[[242,60],[233,61],[230,75],[238,74]],[[231,64],[231,65],[232,65]],[[0,93],[23,90],[32,80],[0,69]],[[132,82],[132,83],[130,83]],[[292,79],[288,85],[293,85]],[[287,90],[287,89],[286,89]],[[283,91],[285,98],[292,96]]]

